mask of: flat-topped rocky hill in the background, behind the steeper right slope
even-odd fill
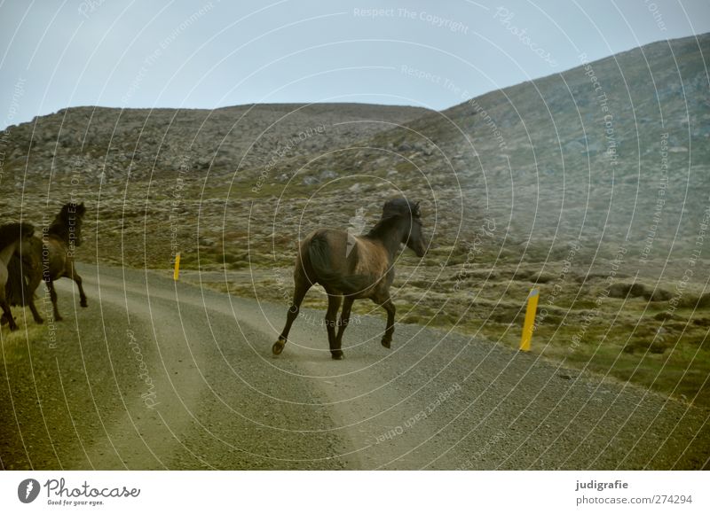
[[[7,128],[4,179],[22,187],[49,175],[62,183],[73,173],[83,183],[98,183],[102,174],[105,182],[164,176],[181,167],[234,173],[327,152],[426,112],[360,104],[72,107]]]

